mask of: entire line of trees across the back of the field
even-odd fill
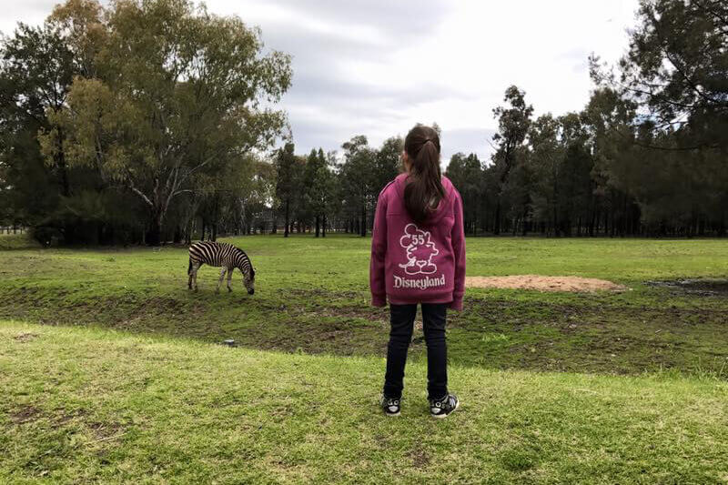
[[[469,234],[725,235],[728,4],[642,0],[637,17],[617,66],[591,57],[581,111],[534,116],[511,86],[490,158],[447,161]],[[185,0],[68,0],[0,54],[0,225],[42,242],[366,235],[399,173],[399,136],[269,151],[288,56]]]

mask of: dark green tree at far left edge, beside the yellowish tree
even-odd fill
[[[60,143],[64,134],[59,133],[54,157],[47,164],[36,139],[39,130],[50,126],[46,110],[64,106],[78,72],[64,33],[48,21],[39,27],[18,25],[0,48],[0,192],[12,214],[9,222],[35,227],[44,243],[49,231],[66,242],[74,242],[79,232],[66,211],[74,190]],[[86,188],[86,180],[76,177],[76,192]]]

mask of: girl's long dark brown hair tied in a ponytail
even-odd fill
[[[417,223],[424,222],[445,197],[440,180],[440,136],[430,126],[415,126],[404,139],[410,175],[404,187],[404,207]]]

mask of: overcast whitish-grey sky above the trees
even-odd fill
[[[38,24],[54,0],[0,0],[0,30]],[[637,0],[208,0],[219,15],[258,25],[267,48],[293,56],[283,98],[296,151],[373,146],[417,122],[443,129],[451,154],[490,153],[492,108],[507,86],[536,114],[586,103],[591,52],[615,61]]]

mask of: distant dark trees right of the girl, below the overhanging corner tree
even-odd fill
[[[610,87],[563,116],[534,119],[515,86],[505,101],[490,164],[460,153],[447,168],[470,234],[725,235],[724,151],[683,150],[680,130],[636,125],[632,103]]]

